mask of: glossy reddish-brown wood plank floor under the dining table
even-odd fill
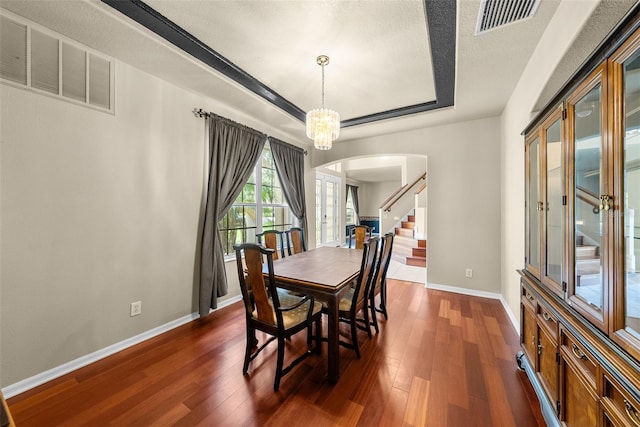
[[[543,426],[496,300],[388,281],[389,320],[341,377],[311,356],[273,391],[276,345],[242,375],[241,303],[9,399],[25,426]],[[346,329],[345,329],[346,332]],[[263,336],[258,336],[263,339]],[[287,357],[305,348],[305,334]],[[286,360],[285,360],[286,363]]]

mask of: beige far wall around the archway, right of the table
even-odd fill
[[[430,283],[500,291],[498,118],[382,135],[314,153],[315,164],[360,155],[428,157]],[[465,278],[465,269],[474,270]]]

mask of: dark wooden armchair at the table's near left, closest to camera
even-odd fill
[[[273,389],[278,391],[280,380],[298,363],[311,355],[312,330],[315,323],[315,352],[320,354],[322,345],[322,304],[310,295],[292,295],[281,292],[276,286],[273,273],[275,251],[254,243],[234,245],[240,290],[245,306],[247,326],[247,346],[244,353],[242,373],[249,370],[249,363],[272,341],[278,341],[276,375]],[[244,253],[244,263],[242,254]],[[263,271],[263,258],[267,270]],[[244,265],[243,265],[244,264]],[[307,330],[307,351],[283,368],[285,340],[294,334]],[[257,347],[256,330],[271,335],[264,344]]]

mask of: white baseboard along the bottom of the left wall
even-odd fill
[[[216,310],[219,310],[228,305],[231,305],[237,301],[240,301],[241,299],[242,299],[242,296],[240,295],[240,296],[229,298],[228,300],[222,301],[218,305],[218,308]],[[2,394],[5,396],[5,398],[9,399],[10,397],[16,396],[20,393],[24,393],[27,390],[31,390],[34,387],[37,387],[48,381],[61,377],[62,375],[68,374],[69,372],[75,371],[76,369],[80,369],[84,366],[90,365],[91,363],[97,362],[100,359],[104,359],[105,357],[111,356],[112,354],[115,354],[126,348],[132,347],[136,344],[140,344],[141,342],[146,341],[149,338],[153,338],[162,333],[170,331],[171,329],[177,328],[178,326],[184,325],[185,323],[189,323],[197,319],[198,317],[199,317],[198,313],[191,313],[179,319],[165,323],[164,325],[160,325],[158,327],[150,329],[146,332],[143,332],[131,338],[127,338],[126,340],[112,344],[108,347],[105,347],[98,351],[94,351],[93,353],[87,354],[85,356],[81,356],[75,360],[64,363],[60,366],[56,366],[55,368],[49,369],[48,371],[42,372],[40,374],[26,378],[22,381],[18,381],[15,384],[11,384],[7,387],[4,387],[2,389]]]

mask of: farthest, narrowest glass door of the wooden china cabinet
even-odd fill
[[[542,201],[540,198],[540,137],[535,135],[527,141],[527,227],[526,266],[527,270],[540,278],[540,217]]]

